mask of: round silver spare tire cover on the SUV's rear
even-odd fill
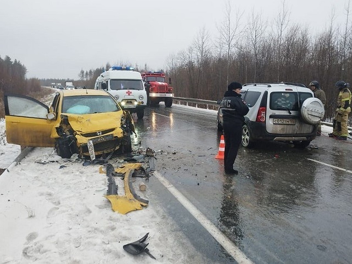
[[[324,117],[324,105],[318,98],[308,98],[303,101],[301,116],[308,124],[316,125]]]

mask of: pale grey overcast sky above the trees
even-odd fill
[[[226,0],[1,0],[0,56],[18,59],[27,77],[78,79],[89,70],[131,63],[165,69],[166,58],[187,49],[205,27],[212,40],[225,18]],[[325,29],[345,21],[348,0],[286,0],[290,23]],[[282,0],[230,0],[244,12],[254,8],[273,20]],[[352,4],[351,4],[352,5]],[[351,7],[352,8],[352,7]]]

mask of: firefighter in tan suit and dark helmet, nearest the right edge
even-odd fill
[[[347,121],[348,114],[351,112],[351,91],[348,89],[348,83],[345,81],[338,81],[335,87],[339,89],[339,96],[337,98],[336,114],[333,120],[333,131],[329,137],[334,137],[339,140],[346,140],[348,136]]]

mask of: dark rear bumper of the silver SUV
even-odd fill
[[[275,141],[312,141],[316,137],[318,126],[314,126],[312,133],[309,134],[271,134],[266,132],[265,123],[246,120],[251,137],[255,140],[275,140]]]

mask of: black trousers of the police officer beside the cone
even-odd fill
[[[222,128],[225,140],[224,168],[225,171],[231,171],[241,143],[242,125],[224,122]]]

